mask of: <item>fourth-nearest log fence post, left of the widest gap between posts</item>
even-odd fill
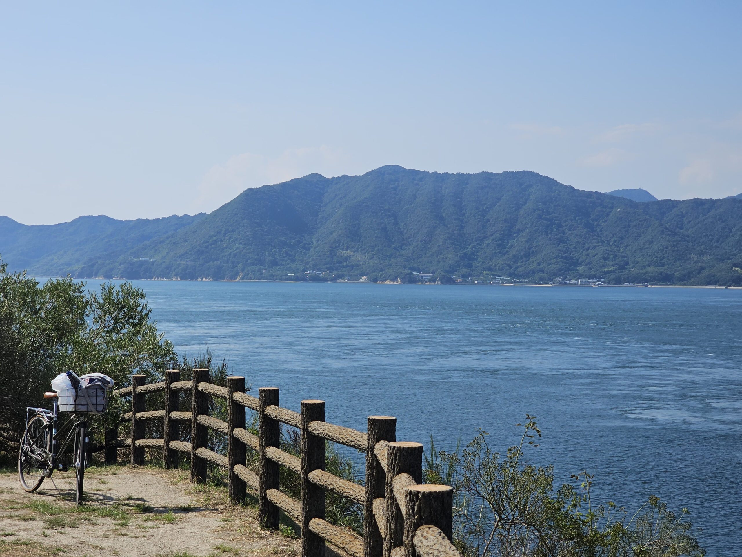
[[[324,400],[301,401],[301,555],[324,557],[325,542],[309,530],[312,518],[325,518],[324,488],[309,481],[309,472],[325,469],[325,440],[309,433],[309,423],[324,422]]]

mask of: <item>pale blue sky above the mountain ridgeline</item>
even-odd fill
[[[0,4],[0,215],[384,164],[742,192],[742,2]]]

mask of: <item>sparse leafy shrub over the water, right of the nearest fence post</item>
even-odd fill
[[[554,489],[552,466],[529,463],[525,449],[536,447],[535,418],[518,424],[519,443],[501,454],[487,432],[461,450],[444,452],[430,443],[424,480],[453,486],[453,542],[464,557],[702,557],[687,520],[659,498],[629,514],[614,503],[595,505],[592,475],[572,478],[578,486]]]

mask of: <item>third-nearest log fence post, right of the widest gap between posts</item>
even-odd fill
[[[379,441],[396,439],[397,419],[391,416],[369,416],[367,426],[368,444],[366,448],[366,506],[364,509],[364,557],[381,557],[384,553],[384,538],[376,524],[373,502],[384,498],[387,489],[387,475],[374,452]],[[386,524],[382,524],[382,528]]]

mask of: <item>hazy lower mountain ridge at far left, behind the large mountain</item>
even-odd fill
[[[0,216],[0,255],[10,270],[96,276],[84,269],[98,267],[101,261],[116,259],[145,241],[187,227],[204,216],[206,213],[117,221],[99,215],[30,226]]]

